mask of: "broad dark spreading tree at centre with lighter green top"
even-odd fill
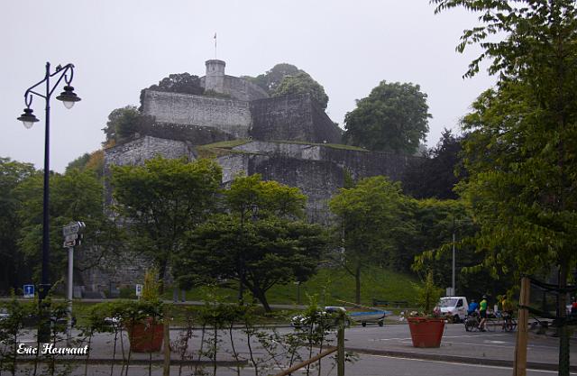
[[[237,280],[269,311],[266,292],[307,280],[325,248],[322,227],[299,220],[305,202],[298,188],[262,181],[258,174],[234,179],[224,191],[225,214],[199,225],[179,252],[180,283]]]

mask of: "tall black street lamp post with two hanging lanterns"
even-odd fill
[[[44,78],[24,92],[24,104],[26,105],[26,108],[24,108],[23,115],[18,117],[18,120],[23,122],[25,128],[31,128],[34,123],[39,121],[33,114],[32,108],[30,108],[32,105],[32,97],[40,96],[44,98],[46,108],[44,119],[44,192],[42,200],[42,271],[41,284],[38,289],[38,302],[41,313],[41,325],[38,328],[38,339],[41,343],[47,343],[50,341],[49,317],[47,316],[48,313],[42,303],[50,290],[50,96],[52,96],[56,87],[58,87],[62,79],[64,79],[66,86],[64,87],[64,91],[62,91],[60,96],[57,96],[56,99],[62,101],[66,108],[72,108],[72,106],[80,100],[76,93],[74,93],[74,87],[70,86],[73,76],[74,65],[67,64],[64,67],[59,65],[53,73],[50,73],[50,62],[47,62]],[[50,78],[56,79],[56,83],[52,87],[50,87]],[[42,85],[44,85],[45,88],[44,94],[34,91],[34,89],[41,87]]]

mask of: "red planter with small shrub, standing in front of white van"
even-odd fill
[[[435,286],[433,273],[429,271],[425,283],[417,286],[417,291],[418,305],[422,311],[407,318],[413,346],[439,347],[444,332],[444,318],[434,309],[443,294],[443,289]]]

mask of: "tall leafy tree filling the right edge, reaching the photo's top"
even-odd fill
[[[433,0],[436,12],[463,6],[481,25],[458,50],[479,43],[498,87],[479,97],[463,122],[462,184],[481,224],[477,240],[488,264],[512,261],[532,273],[557,266],[563,288],[577,263],[577,4],[573,0]],[[504,39],[495,41],[493,37]],[[488,38],[491,38],[489,41]],[[558,312],[564,316],[565,296]],[[569,374],[567,329],[560,334],[560,374]]]

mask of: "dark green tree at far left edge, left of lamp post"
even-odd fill
[[[30,278],[23,253],[18,247],[19,230],[22,226],[18,211],[22,205],[15,190],[23,180],[36,173],[32,163],[22,163],[0,158],[0,291],[8,294],[18,289]],[[1,294],[1,292],[0,292]]]

